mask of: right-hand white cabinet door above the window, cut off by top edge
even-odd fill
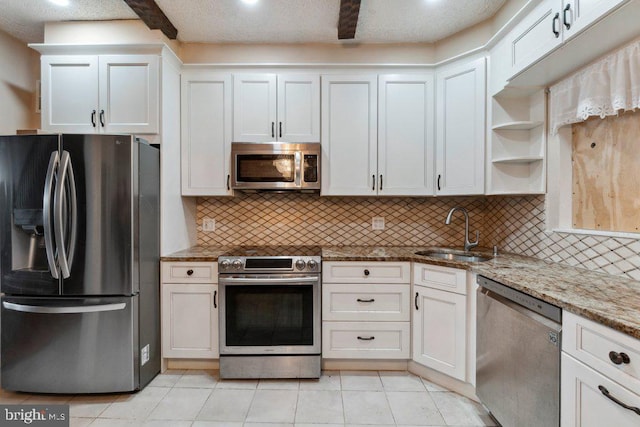
[[[565,0],[562,4],[564,40],[604,17],[626,0]]]

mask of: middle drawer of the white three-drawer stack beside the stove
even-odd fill
[[[409,321],[409,285],[326,283],[323,320]]]

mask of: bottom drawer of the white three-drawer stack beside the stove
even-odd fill
[[[408,359],[409,322],[323,322],[322,357]]]

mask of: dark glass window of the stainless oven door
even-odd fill
[[[313,286],[227,286],[227,346],[313,345]]]

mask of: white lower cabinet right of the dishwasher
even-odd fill
[[[563,427],[640,425],[640,340],[562,314]]]

